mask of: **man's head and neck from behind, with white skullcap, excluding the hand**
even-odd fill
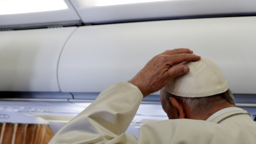
[[[228,89],[226,78],[214,62],[201,57],[199,61],[183,64],[189,66],[190,72],[172,79],[160,94],[163,109],[170,119],[211,121],[212,115],[221,109],[225,112],[241,110],[235,108],[235,100]]]

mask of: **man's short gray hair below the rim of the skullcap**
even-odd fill
[[[160,98],[166,101],[167,107],[170,107],[170,97],[175,98],[183,106],[187,106],[188,108],[190,108],[192,111],[194,111],[195,115],[201,115],[204,113],[204,111],[207,111],[215,106],[221,105],[221,103],[226,101],[229,102],[231,105],[236,106],[233,93],[229,89],[226,92],[220,94],[201,98],[179,97],[177,95],[173,95],[165,91],[164,88],[160,91]]]

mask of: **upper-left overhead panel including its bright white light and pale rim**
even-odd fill
[[[80,23],[68,0],[0,1],[0,30],[77,26]]]

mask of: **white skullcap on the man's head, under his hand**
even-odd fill
[[[164,89],[180,97],[207,97],[228,90],[228,83],[220,69],[213,61],[201,57],[199,61],[183,62],[190,69],[188,74],[178,76]]]

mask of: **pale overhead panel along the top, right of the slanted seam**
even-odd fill
[[[83,23],[92,24],[256,14],[254,0],[70,0],[70,2]]]

